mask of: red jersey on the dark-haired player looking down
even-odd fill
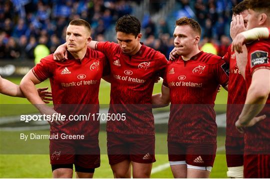
[[[141,45],[135,55],[124,54],[119,44],[98,42],[110,65],[109,113],[125,113],[124,121],[107,121],[107,131],[125,134],[154,134],[151,97],[155,76],[163,76],[166,57]]]

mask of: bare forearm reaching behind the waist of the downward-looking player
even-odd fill
[[[161,93],[153,94],[152,95],[152,107],[165,107],[169,104],[169,88],[162,85],[161,86]]]

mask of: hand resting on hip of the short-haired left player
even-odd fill
[[[41,105],[39,106],[39,111],[43,115],[50,115],[50,120],[47,120],[47,122],[50,125],[61,125],[63,124],[63,121],[60,120],[59,118],[56,118],[56,115],[59,115],[58,112],[56,112],[52,107],[49,107],[45,104],[38,104]]]

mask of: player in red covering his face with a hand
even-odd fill
[[[230,23],[230,36],[232,39],[236,34],[245,30],[248,15],[247,4],[248,1],[243,0],[232,8],[233,15]],[[241,55],[243,56],[243,54]],[[246,60],[241,60],[242,64],[238,66],[236,58],[240,57],[238,53],[231,51],[231,45],[228,47],[227,53],[222,57],[229,64],[225,149],[228,167],[227,176],[232,178],[243,177],[244,139],[243,134],[235,128],[235,121],[242,110],[246,96],[245,82],[240,72],[244,69]]]

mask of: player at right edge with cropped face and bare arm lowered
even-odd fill
[[[247,29],[270,26],[270,1],[249,0]],[[244,177],[270,177],[270,40],[247,45],[245,105],[235,125],[244,131]],[[257,116],[257,117],[256,117]]]

